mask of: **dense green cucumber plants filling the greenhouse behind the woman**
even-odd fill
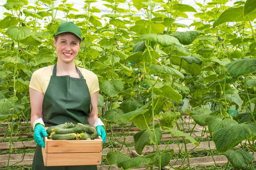
[[[53,4],[52,0],[40,2]],[[96,0],[86,0],[84,11],[65,0],[50,10],[38,2],[28,6],[27,0],[7,0],[8,12],[0,21],[0,122],[9,124],[5,137],[18,129],[20,121],[30,120],[31,74],[56,62],[53,34],[60,23],[72,21],[85,37],[76,64],[98,75],[98,107],[106,127],[132,122],[129,126],[141,130],[134,135],[137,153],[142,154],[146,145],[155,147],[136,158],[118,150],[109,152],[110,165],[123,169],[168,165],[174,150],[159,150],[160,128],[199,146],[199,141],[177,126],[182,101],[187,98],[185,113],[196,124],[207,126],[217,151],[234,168],[247,167],[254,160],[249,152],[256,151],[255,0],[234,1],[232,7],[225,5],[228,0],[195,2],[198,10],[172,0],[128,4],[129,9],[144,11],[144,18],[136,15],[138,11],[119,7],[125,2],[105,0],[104,6],[112,13],[99,18]],[[58,11],[64,12],[64,18],[56,18]],[[188,17],[186,12],[193,12],[200,21],[177,23],[178,17]],[[176,31],[180,27],[195,29]],[[217,107],[205,107],[209,103]],[[242,112],[229,114],[232,105]],[[111,145],[112,136],[108,138]],[[236,148],[239,144],[243,149]]]

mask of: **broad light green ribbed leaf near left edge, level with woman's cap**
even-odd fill
[[[30,28],[16,26],[8,28],[6,34],[10,36],[14,41],[20,41],[32,35]]]

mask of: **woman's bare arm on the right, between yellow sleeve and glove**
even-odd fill
[[[90,126],[94,125],[94,122],[98,118],[98,91],[94,94],[90,95],[90,100],[92,102],[92,113],[90,113],[90,117],[88,118],[88,122]]]

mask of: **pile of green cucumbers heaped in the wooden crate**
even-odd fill
[[[57,126],[49,126],[46,130],[48,138],[53,140],[93,140],[98,134],[88,124],[65,123]]]

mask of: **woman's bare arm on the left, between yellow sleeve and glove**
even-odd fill
[[[43,118],[42,115],[42,104],[44,94],[33,88],[30,88],[30,105],[31,105],[31,125],[39,118]]]

